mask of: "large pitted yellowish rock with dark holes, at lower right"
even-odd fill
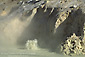
[[[84,24],[84,37],[76,36],[75,33],[61,44],[61,51],[65,55],[85,55],[85,24]]]

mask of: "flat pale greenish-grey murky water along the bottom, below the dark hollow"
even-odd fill
[[[9,50],[9,51],[8,51]],[[75,57],[75,56],[67,56],[55,52],[49,52],[48,50],[20,50],[15,48],[0,48],[0,57]],[[77,57],[84,57],[84,55],[80,55]]]

